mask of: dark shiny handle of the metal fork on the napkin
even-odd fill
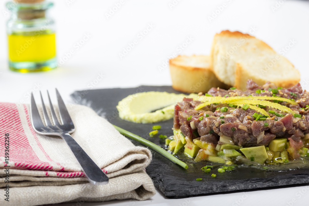
[[[106,174],[93,162],[88,154],[78,145],[69,133],[61,133],[60,136],[66,141],[80,166],[82,166],[86,177],[92,184],[107,184],[108,177]]]

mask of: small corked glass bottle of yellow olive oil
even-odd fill
[[[52,2],[14,0],[7,21],[9,68],[18,72],[46,71],[57,67],[55,23],[47,10]]]

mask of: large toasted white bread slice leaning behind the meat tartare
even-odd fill
[[[216,34],[210,58],[217,78],[241,90],[246,90],[248,79],[259,85],[269,81],[284,88],[300,80],[298,70],[290,61],[265,42],[241,32]]]

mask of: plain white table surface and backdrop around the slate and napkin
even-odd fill
[[[31,91],[57,87],[66,102],[72,101],[75,90],[139,85],[171,85],[168,66],[164,62],[178,54],[209,54],[213,36],[222,30],[249,32],[264,40],[277,52],[284,52],[301,73],[301,84],[309,88],[309,2],[301,0],[54,0],[52,15],[57,22],[57,53],[61,67],[45,73],[19,74],[7,65],[7,40],[0,3],[0,101],[29,103]],[[71,3],[70,3],[71,2]],[[115,4],[117,11],[107,18]],[[174,3],[174,4],[173,4]],[[223,5],[223,3],[225,3]],[[222,7],[221,6],[225,6]],[[222,11],[219,9],[221,8]],[[216,11],[217,10],[217,11]],[[217,16],[209,17],[217,12]],[[148,27],[148,25],[152,25]],[[139,35],[148,27],[142,38]],[[79,49],[76,42],[90,35]],[[188,38],[191,42],[180,48]],[[137,40],[137,44],[122,59],[119,53]],[[289,42],[296,42],[289,47]],[[288,48],[288,51],[281,50]],[[66,53],[74,54],[60,62]],[[163,65],[163,66],[162,66]],[[162,66],[163,69],[159,69]],[[100,81],[96,81],[99,76]],[[146,201],[109,201],[86,205],[307,205],[309,186],[248,192],[234,192],[167,199],[159,191]],[[61,205],[79,205],[78,203]]]

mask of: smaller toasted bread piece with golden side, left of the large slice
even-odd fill
[[[206,93],[211,87],[226,88],[210,68],[209,56],[178,56],[170,59],[172,87],[187,93]]]

